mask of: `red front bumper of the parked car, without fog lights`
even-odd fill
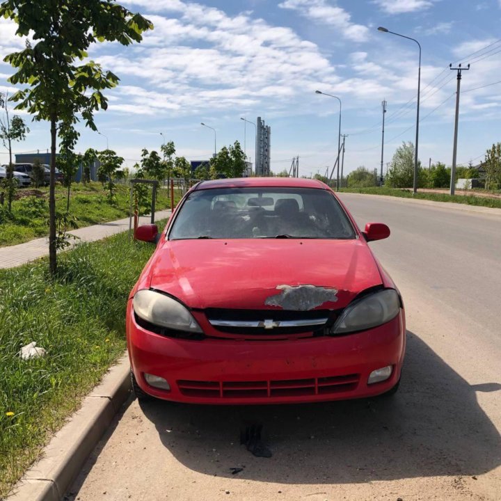
[[[138,385],[161,399],[193,404],[280,404],[372,397],[400,377],[405,352],[404,312],[387,324],[342,337],[247,341],[179,340],[136,324],[127,308],[127,347]],[[375,369],[389,379],[367,385]],[[144,374],[166,379],[170,391]]]

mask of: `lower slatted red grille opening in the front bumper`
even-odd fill
[[[328,376],[310,379],[280,379],[268,381],[177,381],[186,397],[200,398],[273,398],[335,395],[355,390],[360,374]]]

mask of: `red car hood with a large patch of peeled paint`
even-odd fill
[[[150,269],[152,289],[190,308],[335,310],[381,283],[360,240],[165,241]]]

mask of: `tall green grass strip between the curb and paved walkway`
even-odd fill
[[[127,297],[153,250],[125,232],[59,255],[54,280],[47,260],[0,270],[0,499],[124,352]],[[32,341],[47,356],[22,360]]]

